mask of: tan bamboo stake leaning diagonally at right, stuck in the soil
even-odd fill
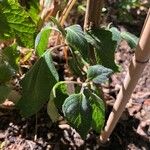
[[[150,9],[149,9],[150,12]],[[136,47],[135,56],[133,57],[128,69],[128,73],[122,84],[112,112],[109,115],[105,129],[100,135],[100,141],[105,143],[116,126],[130,96],[150,58],[150,13],[148,13],[141,32],[139,43]]]

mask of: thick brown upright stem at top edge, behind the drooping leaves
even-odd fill
[[[84,20],[85,30],[100,26],[103,4],[104,0],[87,0],[87,8]]]

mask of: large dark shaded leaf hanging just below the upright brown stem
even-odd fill
[[[113,37],[111,31],[94,28],[86,33],[87,41],[95,47],[95,57],[98,64],[114,71],[118,71],[115,64],[115,50],[117,40]]]

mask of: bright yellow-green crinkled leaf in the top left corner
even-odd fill
[[[20,46],[33,48],[36,24],[17,0],[0,1],[0,39],[16,38]]]

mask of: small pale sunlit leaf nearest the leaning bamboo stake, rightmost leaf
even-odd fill
[[[135,48],[139,38],[129,32],[121,32],[121,37],[126,40],[131,48]]]

